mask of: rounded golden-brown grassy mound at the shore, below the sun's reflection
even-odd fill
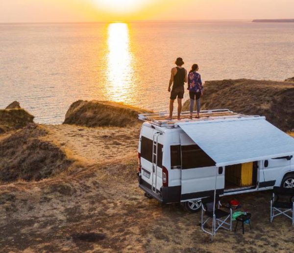
[[[75,101],[66,113],[64,124],[86,127],[125,127],[138,122],[145,109],[111,101]]]

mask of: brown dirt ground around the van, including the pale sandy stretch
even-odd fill
[[[200,213],[144,197],[136,177],[140,127],[43,127],[48,139],[87,164],[38,182],[0,185],[0,252],[293,251],[290,219],[269,222],[268,191],[235,196],[252,213],[252,230],[220,230],[213,242],[199,227]]]

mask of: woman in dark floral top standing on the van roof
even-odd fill
[[[197,116],[196,118],[200,118],[200,96],[203,95],[203,85],[201,81],[201,76],[197,71],[199,70],[197,64],[193,64],[192,68],[188,74],[188,90],[189,90],[189,97],[190,97],[190,119],[193,118],[193,107],[194,101],[196,100],[196,107],[197,107]]]

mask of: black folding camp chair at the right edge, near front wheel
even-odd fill
[[[284,198],[283,198],[284,197]],[[288,198],[287,198],[288,197]],[[283,198],[283,200],[281,200]],[[285,215],[292,220],[294,225],[294,188],[273,187],[270,201],[270,222],[278,215]],[[274,213],[277,211],[278,213]],[[291,216],[287,214],[291,212]]]

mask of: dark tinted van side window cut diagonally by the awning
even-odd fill
[[[215,166],[216,163],[198,145],[182,146],[182,169]]]

